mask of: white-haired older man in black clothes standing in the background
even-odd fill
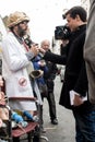
[[[45,39],[40,43],[40,48],[43,48],[46,51],[50,51],[50,42],[48,39]],[[47,100],[49,105],[49,115],[50,115],[50,120],[52,125],[58,125],[58,119],[57,119],[57,110],[56,110],[56,100],[55,100],[55,79],[58,72],[58,68],[55,63],[50,61],[46,61],[46,67],[47,71],[44,71],[44,80],[45,83],[47,84],[48,87],[48,95],[47,95]]]

